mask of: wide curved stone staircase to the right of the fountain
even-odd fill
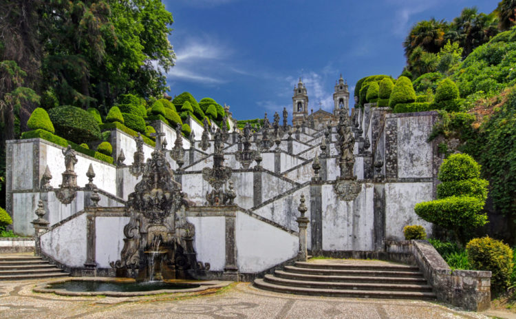
[[[309,260],[256,279],[255,287],[287,294],[436,300],[417,266],[380,260]]]

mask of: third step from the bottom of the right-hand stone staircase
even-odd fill
[[[322,282],[365,282],[365,283],[400,283],[400,284],[425,284],[424,277],[380,277],[380,276],[323,276],[312,274],[296,274],[288,271],[277,270],[275,276],[285,279],[322,281]]]

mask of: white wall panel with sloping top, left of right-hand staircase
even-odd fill
[[[237,265],[241,272],[259,272],[297,255],[299,239],[286,231],[237,212]]]

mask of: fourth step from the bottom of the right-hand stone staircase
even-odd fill
[[[419,278],[422,276],[420,271],[383,271],[383,270],[356,270],[356,269],[321,269],[321,268],[301,268],[286,266],[285,270],[297,274],[310,274],[322,276],[375,276],[375,277],[408,277]]]

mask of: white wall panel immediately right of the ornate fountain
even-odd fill
[[[222,271],[226,265],[226,218],[224,216],[187,217],[195,226],[194,249],[197,261],[210,263],[210,270]]]

